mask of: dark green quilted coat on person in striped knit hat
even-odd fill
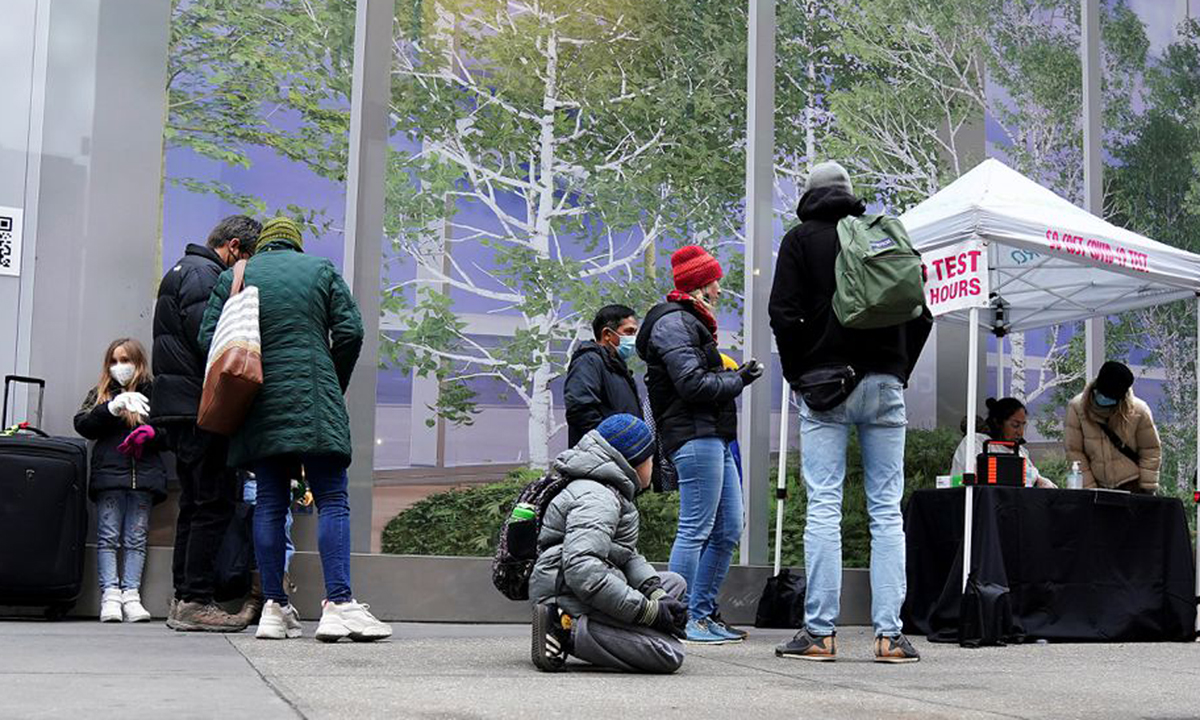
[[[229,298],[233,270],[221,275],[200,325],[208,352]],[[246,265],[258,288],[263,389],[230,438],[229,464],[245,468],[289,454],[341,456],[350,462],[350,421],[343,394],[362,349],[362,316],[334,264],[287,241],[259,248]]]

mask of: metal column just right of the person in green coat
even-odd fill
[[[346,260],[342,275],[362,311],[366,337],[346,394],[354,462],[350,466],[350,545],[371,552],[374,490],[376,379],[379,366],[379,268],[383,254],[384,179],[388,163],[392,4],[358,0],[350,155],[346,182]]]

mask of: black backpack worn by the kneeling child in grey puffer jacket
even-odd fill
[[[509,600],[529,599],[529,576],[538,562],[538,535],[546,508],[574,478],[547,473],[544,478],[526,485],[515,505],[528,504],[534,510],[533,520],[517,520],[511,515],[500,528],[500,539],[492,558],[492,584]]]

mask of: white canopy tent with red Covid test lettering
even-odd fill
[[[1200,257],[1105,222],[998,160],[984,161],[901,221],[926,258],[926,289],[941,292],[931,310],[971,325],[968,437],[976,432],[980,310],[991,308],[990,328],[1002,335],[1200,298]],[[1200,359],[1196,368],[1200,374]],[[1200,458],[1200,407],[1196,431]],[[964,587],[972,494],[967,487]],[[1200,520],[1200,505],[1196,514]]]

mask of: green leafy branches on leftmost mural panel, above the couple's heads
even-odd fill
[[[266,149],[344,180],[353,48],[354,0],[174,0],[163,162],[188,150],[250,168],[251,152]],[[228,182],[163,173],[168,182],[266,212],[262,198]],[[288,211],[329,229],[322,209]]]

